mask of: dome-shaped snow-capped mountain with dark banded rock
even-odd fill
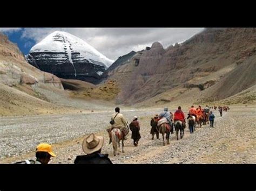
[[[65,79],[96,83],[114,62],[84,40],[67,32],[55,31],[33,46],[28,62]]]

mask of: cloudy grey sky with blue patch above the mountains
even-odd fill
[[[203,28],[0,28],[17,43],[24,54],[54,31],[69,32],[116,60],[131,51],[140,51],[158,41],[164,48],[184,41]]]

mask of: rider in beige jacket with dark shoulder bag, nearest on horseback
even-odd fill
[[[113,120],[114,123],[111,124],[111,128],[110,129],[107,129],[107,131],[109,132],[109,138],[110,138],[110,141],[109,143],[111,143],[111,131],[114,129],[114,128],[117,128],[117,129],[120,129],[120,131],[123,130],[123,128],[126,128],[126,125],[127,125],[127,121],[124,117],[123,114],[120,114],[120,108],[115,108],[114,109],[116,111],[116,113],[114,113],[111,117],[111,121]],[[126,138],[124,137],[124,140],[126,140]]]

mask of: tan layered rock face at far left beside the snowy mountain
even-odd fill
[[[47,83],[63,89],[59,78],[53,74],[42,72],[26,62],[18,47],[0,33],[0,83],[7,86],[18,84]]]

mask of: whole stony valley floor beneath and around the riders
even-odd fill
[[[57,154],[50,164],[73,164],[76,155],[84,154],[82,142],[89,133],[104,136],[102,153],[108,153],[114,164],[255,164],[256,163],[256,107],[231,105],[231,110],[220,117],[217,110],[214,128],[204,125],[190,134],[185,129],[183,139],[170,136],[170,145],[163,140],[151,140],[150,120],[161,110],[136,109],[122,113],[130,122],[139,117],[142,138],[133,146],[131,132],[125,141],[124,153],[113,156],[108,144],[106,128],[112,112],[93,114],[44,115],[0,118],[0,163],[34,159],[38,143],[53,144]],[[174,110],[171,110],[172,112]]]

